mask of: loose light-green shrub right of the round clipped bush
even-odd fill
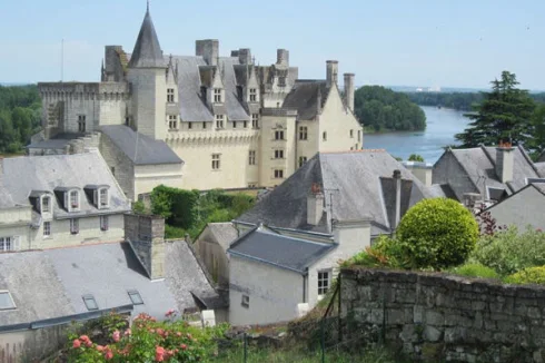
[[[524,268],[545,265],[545,233],[527,228],[519,233],[514,226],[478,238],[472,259],[511,275]]]

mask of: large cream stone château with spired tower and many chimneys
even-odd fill
[[[43,131],[29,150],[78,153],[92,135],[130,198],[159,184],[276,186],[318,151],[363,147],[354,75],[344,81],[341,96],[334,60],[325,80],[298,79],[285,49],[268,67],[250,49],[220,57],[212,39],[198,40],[195,56],[165,55],[148,9],[132,53],[106,47],[100,82],[39,84]]]

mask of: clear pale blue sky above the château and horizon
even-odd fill
[[[326,60],[356,85],[488,88],[503,70],[545,89],[543,0],[151,0],[166,55],[250,48],[256,62],[290,51],[299,78]],[[98,81],[106,45],[131,52],[146,0],[0,1],[0,82]],[[339,77],[341,79],[341,77]]]

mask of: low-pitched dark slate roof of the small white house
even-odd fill
[[[232,243],[227,252],[305,274],[307,267],[336,247],[336,244],[293,238],[259,226]]]

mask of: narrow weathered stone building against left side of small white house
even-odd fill
[[[209,223],[194,243],[200,261],[220,288],[229,288],[227,249],[238,238],[232,223]]]

